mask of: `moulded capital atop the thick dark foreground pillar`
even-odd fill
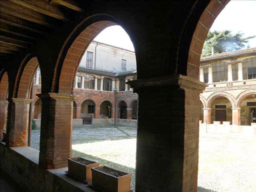
[[[155,86],[165,86],[173,85],[177,88],[193,88],[196,90],[205,90],[207,84],[201,81],[198,81],[195,78],[189,76],[179,75],[170,75],[156,78],[143,78],[133,81],[128,81],[126,84],[129,84],[131,88],[140,89],[143,87],[155,87]]]

